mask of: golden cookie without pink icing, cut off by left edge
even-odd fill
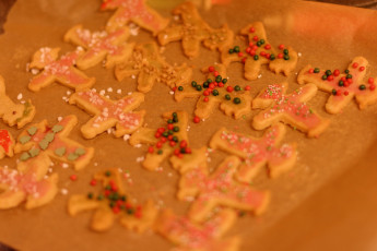
[[[10,127],[24,127],[31,122],[35,116],[35,107],[31,100],[24,104],[14,104],[5,94],[4,79],[0,75],[0,118]]]

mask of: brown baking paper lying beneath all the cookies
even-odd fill
[[[151,1],[151,4],[165,16],[169,16],[169,10],[176,2],[178,1]],[[59,188],[67,189],[68,195],[59,193],[52,203],[33,211],[17,207],[0,212],[0,241],[15,249],[51,250],[54,247],[54,250],[151,250],[153,247],[153,250],[167,250],[173,247],[153,232],[138,235],[125,230],[118,224],[107,232],[93,232],[89,229],[91,213],[80,214],[76,217],[67,214],[68,196],[86,193],[93,174],[107,167],[120,167],[131,174],[133,184],[127,184],[127,180],[125,184],[138,201],[152,198],[161,205],[181,214],[189,206],[189,203],[175,199],[179,176],[167,162],[163,164],[164,170],[161,172],[150,172],[141,168],[137,158],[144,155],[146,146],[133,148],[121,139],[115,139],[106,133],[94,140],[84,140],[80,134],[80,125],[85,123],[90,116],[62,99],[68,96],[68,88],[56,84],[36,94],[27,91],[27,82],[32,74],[26,72],[26,63],[34,51],[43,46],[61,47],[62,52],[73,49],[73,46],[62,41],[62,36],[78,23],[84,24],[92,31],[104,28],[111,12],[99,12],[99,3],[97,0],[63,2],[19,0],[8,16],[5,34],[0,36],[0,74],[5,79],[8,95],[13,100],[16,100],[19,93],[23,94],[24,99],[32,98],[37,108],[34,122],[47,119],[50,123],[55,123],[59,116],[76,115],[79,127],[74,128],[71,138],[84,145],[93,145],[96,150],[92,163],[79,172],[72,168],[62,169],[58,165],[55,166],[54,170],[59,174]],[[219,27],[227,22],[235,32],[254,21],[262,21],[266,24],[268,38],[273,45],[281,43],[291,45],[303,55],[295,72],[307,63],[323,69],[344,69],[353,57],[364,56],[372,65],[368,75],[377,75],[377,67],[375,67],[377,37],[372,35],[377,32],[375,11],[362,9],[355,11],[354,8],[314,2],[271,3],[245,0],[232,1],[226,8],[215,5],[211,11],[201,11],[201,13],[211,26]],[[130,40],[149,39],[154,38],[149,33],[140,32],[138,37],[131,37]],[[204,79],[199,71],[200,68],[219,61],[219,53],[204,48],[201,49],[200,58],[188,60],[182,56],[179,43],[166,46],[164,55],[168,62],[188,62],[196,65],[195,80]],[[285,80],[290,82],[290,91],[298,86],[295,74],[285,77],[275,75],[266,68],[262,69],[261,79],[246,81],[243,79],[241,67],[238,63],[231,64],[228,68],[231,83],[251,85],[252,95],[269,83]],[[101,65],[86,70],[85,73],[96,77],[94,87],[97,89],[121,88],[122,94],[136,91],[134,80],[129,79],[118,83],[114,79],[113,71],[105,70]],[[193,99],[177,104],[168,93],[167,86],[156,84],[153,91],[146,94],[140,109],[148,110],[145,121],[149,127],[157,128],[162,124],[162,112],[173,108],[185,109],[192,115]],[[111,98],[121,97],[115,92],[109,95]],[[366,219],[363,212],[372,213],[369,208],[376,207],[374,201],[376,199],[370,199],[372,191],[376,191],[373,182],[375,177],[373,167],[376,167],[376,159],[368,150],[373,150],[377,139],[377,106],[360,111],[355,103],[351,103],[341,115],[331,116],[323,109],[327,98],[328,94],[319,92],[309,101],[321,116],[331,119],[331,125],[319,139],[307,139],[305,134],[291,128],[287,130],[284,142],[297,142],[298,145],[299,158],[295,168],[275,180],[270,180],[267,172],[261,172],[255,180],[256,188],[271,190],[272,202],[266,214],[258,218],[251,215],[239,218],[227,234],[227,236],[241,236],[240,250],[255,248],[256,250],[309,250],[309,248],[327,250],[330,243],[334,242],[332,238],[340,244],[345,241],[344,243],[352,242],[355,248],[363,247],[357,250],[373,250],[375,247],[373,240],[377,230],[368,227],[373,226],[369,223],[358,226],[367,231],[370,238],[354,234],[352,235],[354,239],[351,239],[349,238],[351,234],[345,229],[353,226],[351,223],[363,223],[363,219]],[[207,145],[212,135],[209,132],[215,132],[220,127],[260,136],[261,131],[250,128],[251,118],[257,112],[258,110],[252,110],[246,119],[235,121],[216,110],[205,122],[190,123],[191,146]],[[8,128],[1,121],[0,127]],[[21,131],[11,129],[11,132],[16,136]],[[220,152],[212,154],[211,167],[215,167],[225,156]],[[14,167],[14,158],[2,159],[0,165]],[[78,181],[70,181],[69,177],[72,174],[78,175]],[[346,181],[350,180],[350,176],[358,178],[355,178],[354,182]],[[345,181],[338,181],[344,179]],[[342,184],[344,190],[333,191]],[[319,192],[315,193],[316,191]],[[370,194],[370,198],[367,200],[368,203],[365,203],[364,196],[347,198],[349,194]],[[345,199],[341,200],[341,198]],[[319,217],[317,212],[322,217]],[[329,212],[330,215],[327,215]],[[349,213],[342,216],[340,212]],[[338,218],[338,225],[333,218]],[[373,217],[370,222],[373,223]],[[303,231],[305,228],[302,225],[309,230]],[[358,232],[364,232],[363,230]]]

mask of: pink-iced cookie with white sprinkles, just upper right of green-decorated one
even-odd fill
[[[111,100],[93,89],[74,93],[69,99],[70,104],[94,115],[81,128],[85,139],[93,139],[113,127],[115,127],[115,136],[131,134],[143,124],[145,111],[133,111],[142,101],[144,101],[144,95],[138,92],[119,100]]]

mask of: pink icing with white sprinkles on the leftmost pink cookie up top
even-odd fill
[[[62,56],[59,60],[55,61],[50,55],[50,50],[43,48],[40,51],[40,62],[45,62],[44,71],[40,75],[33,77],[30,85],[39,85],[46,81],[50,75],[63,79],[69,84],[84,84],[87,79],[74,72],[73,65],[79,58],[80,50],[68,52]]]

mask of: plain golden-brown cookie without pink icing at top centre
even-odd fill
[[[200,16],[192,2],[184,2],[173,11],[180,19],[172,22],[167,28],[158,34],[161,45],[181,40],[184,53],[189,58],[199,55],[200,44],[211,50],[222,50],[233,43],[234,34],[224,25],[222,28],[211,28]]]

